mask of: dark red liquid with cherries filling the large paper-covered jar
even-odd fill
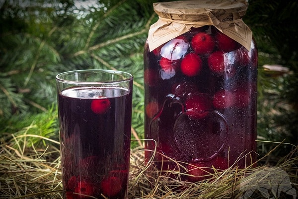
[[[208,34],[214,43],[195,50],[192,39],[198,33]],[[146,149],[156,147],[159,169],[189,172],[189,164],[243,168],[255,161],[257,50],[254,41],[250,50],[235,41],[229,49],[221,47],[218,35],[222,33],[214,27],[204,26],[151,52],[145,46],[145,136],[156,141],[147,140]],[[195,67],[185,61],[190,54],[200,59]],[[152,155],[146,152],[147,159]],[[183,180],[207,174],[192,171],[198,178]]]

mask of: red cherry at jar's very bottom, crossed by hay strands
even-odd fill
[[[208,168],[204,167],[206,167],[204,163],[193,163],[187,165],[186,174],[189,175],[187,176],[187,180],[189,182],[198,182],[210,178],[207,176],[209,174]]]

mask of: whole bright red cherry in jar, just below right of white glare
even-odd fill
[[[202,70],[202,60],[199,55],[189,53],[182,59],[180,67],[184,75],[194,77],[199,75]]]

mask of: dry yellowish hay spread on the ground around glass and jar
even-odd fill
[[[4,141],[7,137],[1,140],[0,199],[61,199],[58,143],[48,139],[49,146],[27,148],[28,136],[12,136],[9,142]],[[281,145],[283,143],[277,147]],[[131,152],[128,198],[244,199],[251,196],[253,199],[291,199],[296,197],[298,190],[298,147],[293,148],[274,167],[263,165],[237,169],[234,165],[224,171],[213,168],[211,178],[198,183],[180,181],[181,175],[186,174],[178,171],[156,170],[152,161],[145,162],[144,150],[135,148]],[[172,179],[171,174],[177,178]],[[269,182],[271,186],[268,186]]]

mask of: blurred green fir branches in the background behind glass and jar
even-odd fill
[[[0,3],[0,136],[59,140],[55,76],[117,69],[134,76],[132,125],[144,138],[143,50],[156,0],[43,0]],[[87,6],[79,6],[82,3]],[[250,0],[243,18],[259,49],[258,139],[298,145],[296,0]],[[267,71],[264,64],[290,72]],[[134,139],[134,138],[133,138]],[[32,138],[28,144],[44,144]],[[133,141],[132,146],[137,146]],[[276,144],[258,142],[265,154]],[[285,155],[283,145],[274,155]]]

